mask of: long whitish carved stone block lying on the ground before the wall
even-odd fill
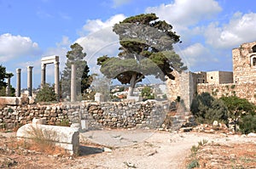
[[[41,124],[26,124],[16,133],[17,138],[45,139],[66,149],[70,155],[79,155],[79,130],[72,127],[59,127]]]

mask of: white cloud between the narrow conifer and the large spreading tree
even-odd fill
[[[85,60],[90,65],[91,73],[99,73],[96,66],[98,57],[104,54],[114,56],[118,53],[119,37],[112,31],[112,26],[122,20],[125,20],[125,15],[116,14],[106,21],[87,20],[83,26],[83,32],[89,32],[89,35],[80,37],[75,42],[84,48],[87,54]]]

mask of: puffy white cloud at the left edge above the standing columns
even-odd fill
[[[30,37],[13,36],[9,33],[0,35],[0,61],[5,62],[21,56],[38,54],[37,42]]]

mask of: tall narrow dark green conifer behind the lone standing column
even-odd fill
[[[89,67],[84,60],[86,54],[79,43],[74,43],[70,46],[71,51],[67,52],[67,62],[61,76],[61,90],[62,97],[70,96],[71,85],[71,65],[76,65],[76,81],[77,81],[77,95],[85,93],[86,89],[90,87],[92,77],[89,74]]]

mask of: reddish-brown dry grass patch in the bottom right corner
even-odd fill
[[[195,156],[186,161],[188,168],[254,168],[256,166],[256,144],[207,144],[197,150]]]

